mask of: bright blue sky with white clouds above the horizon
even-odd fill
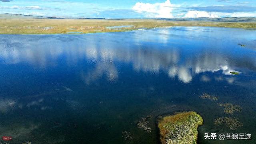
[[[86,18],[256,17],[256,0],[0,0],[0,13]]]

